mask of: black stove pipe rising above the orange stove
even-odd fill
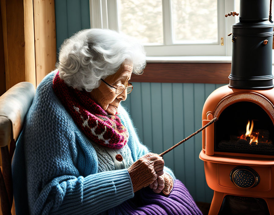
[[[239,23],[232,25],[230,87],[270,89],[273,27],[269,0],[241,0]]]

